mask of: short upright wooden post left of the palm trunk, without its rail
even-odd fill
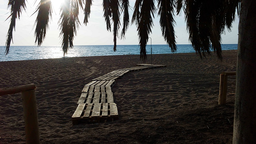
[[[219,104],[226,104],[228,76],[220,74]]]

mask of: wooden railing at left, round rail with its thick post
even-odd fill
[[[0,96],[20,93],[22,95],[22,104],[25,121],[25,133],[27,144],[39,144],[39,128],[37,121],[37,103],[36,103],[36,85],[22,85],[14,88],[2,90]]]

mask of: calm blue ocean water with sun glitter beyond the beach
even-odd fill
[[[237,44],[223,44],[222,50],[237,49]],[[151,45],[146,47],[151,54]],[[195,52],[189,44],[177,45],[176,53]],[[5,56],[5,46],[0,46],[0,61],[30,60],[46,58],[62,58],[61,46],[11,46],[10,52]],[[168,45],[152,45],[152,54],[172,53]],[[118,45],[117,51],[113,51],[112,45],[88,45],[74,46],[69,49],[65,57],[109,56],[109,55],[134,55],[140,54],[139,45]]]

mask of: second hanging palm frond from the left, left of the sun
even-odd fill
[[[34,26],[36,25],[35,29],[35,37],[37,42],[37,46],[41,46],[43,40],[45,39],[46,31],[49,26],[49,19],[51,18],[52,13],[52,5],[51,0],[41,0],[38,4],[37,10],[35,13],[38,12],[36,22]]]

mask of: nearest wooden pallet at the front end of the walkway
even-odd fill
[[[115,103],[79,104],[72,116],[72,123],[101,122],[118,119]]]

